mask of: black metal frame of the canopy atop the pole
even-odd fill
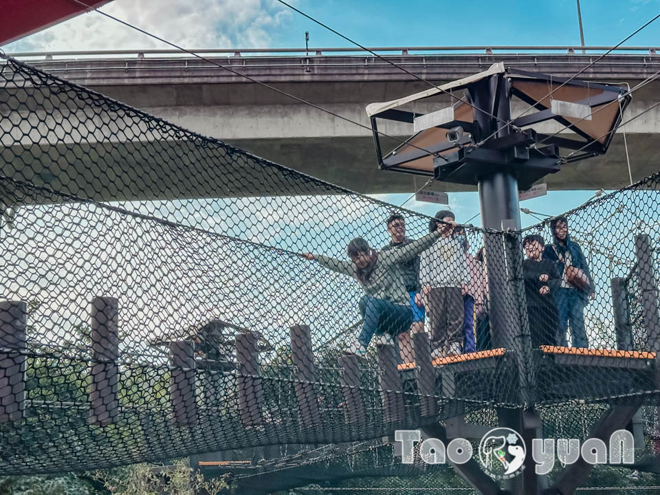
[[[479,177],[487,170],[491,173],[493,168],[501,170],[509,170],[516,175],[521,189],[525,189],[534,182],[538,181],[549,173],[555,173],[560,170],[561,157],[559,155],[559,148],[568,148],[572,150],[584,151],[575,157],[571,157],[570,161],[575,162],[580,159],[593,157],[595,155],[603,154],[607,151],[613,139],[613,131],[621,122],[622,113],[630,103],[630,95],[626,94],[624,87],[616,85],[604,85],[599,83],[588,83],[581,80],[573,80],[569,78],[560,78],[551,76],[549,74],[542,74],[540,72],[531,72],[520,69],[512,69],[507,67],[505,74],[496,74],[489,76],[495,78],[492,80],[494,88],[491,94],[492,101],[487,105],[488,113],[497,115],[497,109],[500,107],[500,100],[502,98],[511,98],[512,95],[517,96],[522,101],[525,101],[539,111],[530,115],[522,115],[515,120],[511,121],[511,125],[506,129],[506,132],[500,133],[490,137],[487,142],[481,146],[474,146],[474,139],[478,134],[476,122],[464,122],[461,120],[452,120],[445,124],[437,126],[439,129],[452,129],[456,126],[463,127],[465,134],[459,142],[441,142],[434,146],[427,146],[426,151],[417,149],[408,151],[406,153],[398,154],[399,150],[409,144],[419,133],[410,136],[404,143],[399,144],[392,151],[383,155],[380,143],[380,135],[377,129],[377,119],[383,118],[386,120],[395,120],[397,122],[406,122],[412,124],[413,120],[423,115],[423,113],[413,113],[398,109],[388,109],[371,116],[371,127],[373,131],[373,139],[376,149],[376,156],[381,170],[393,170],[401,173],[409,173],[413,175],[425,175],[427,177],[434,177],[439,181],[452,182],[454,184],[478,184]],[[506,79],[506,80],[505,80]],[[548,107],[540,104],[536,100],[529,98],[529,96],[522,93],[511,86],[513,80],[542,80],[551,83],[565,84],[566,86],[591,88],[598,91],[604,91],[602,94],[580,100],[579,104],[588,104],[589,107],[601,107],[604,104],[609,104],[619,100],[621,105],[620,110],[617,112],[616,118],[613,120],[609,133],[606,135],[606,140],[603,143],[591,142],[593,137],[584,131],[577,129],[569,120],[561,115],[555,115]],[[470,83],[468,85],[457,87],[456,89],[470,88],[474,91],[476,85],[483,85],[485,80]],[[506,83],[506,84],[505,84]],[[506,86],[506,91],[504,87]],[[497,128],[495,118],[491,118],[492,127]],[[509,120],[509,119],[505,119]],[[560,135],[538,134],[533,129],[520,129],[521,126],[529,126],[531,124],[538,124],[547,120],[555,120],[560,124],[568,127],[582,139],[576,140],[569,137]],[[468,135],[470,137],[468,137]],[[478,136],[476,136],[478,137]],[[485,136],[483,136],[485,137]],[[531,146],[540,146],[545,144],[542,148],[531,148]],[[452,153],[446,153],[452,148],[456,148]],[[443,153],[440,155],[440,153]],[[425,170],[417,170],[414,168],[403,167],[403,164],[419,159],[428,154],[434,155],[434,170],[431,173]]]

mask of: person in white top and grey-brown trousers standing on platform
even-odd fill
[[[440,221],[438,221],[440,220]],[[468,281],[465,252],[454,239],[454,213],[441,210],[429,222],[439,239],[419,256],[419,283],[433,358],[458,355],[463,348],[463,294]]]

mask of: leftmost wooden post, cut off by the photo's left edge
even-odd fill
[[[25,411],[25,327],[28,305],[0,301],[0,423],[16,421]]]

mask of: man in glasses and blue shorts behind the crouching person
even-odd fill
[[[412,242],[411,239],[406,237],[406,221],[401,214],[396,212],[391,214],[387,219],[386,225],[391,240],[388,245],[382,248],[382,252],[393,248],[400,248]],[[400,263],[399,269],[404,276],[406,290],[410,295],[410,309],[412,309],[410,331],[399,333],[399,353],[401,354],[402,362],[410,363],[413,361],[410,334],[424,331],[424,308],[421,301],[421,294],[419,294],[419,256]]]

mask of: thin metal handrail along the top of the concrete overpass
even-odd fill
[[[409,55],[410,52],[479,52],[481,54],[492,54],[494,51],[524,51],[524,52],[566,52],[566,54],[582,56],[577,51],[586,50],[591,52],[606,52],[608,50],[617,52],[646,52],[650,55],[657,55],[660,52],[659,47],[653,46],[620,46],[609,47],[602,45],[579,46],[579,45],[483,45],[483,46],[411,46],[411,47],[371,47],[372,52],[399,52],[401,55]],[[243,54],[305,54],[309,56],[313,53],[315,56],[322,56],[324,53],[369,53],[358,47],[320,47],[311,48],[200,48],[190,50],[196,54],[230,54],[231,56],[242,56]],[[134,55],[135,58],[144,58],[146,55],[164,55],[164,54],[185,54],[181,50],[171,48],[158,50],[83,50],[76,52],[14,52],[13,57],[44,57],[50,59],[58,57],[76,57],[76,56],[119,56]]]

